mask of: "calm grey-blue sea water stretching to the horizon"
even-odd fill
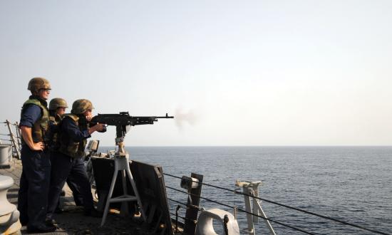
[[[105,152],[108,147],[101,147]],[[392,234],[392,147],[128,147],[130,158],[160,164],[168,174],[204,175],[204,182],[234,190],[236,179],[262,180],[259,196]],[[180,180],[165,176],[180,188]],[[244,208],[243,197],[203,186],[202,196]],[[187,202],[167,189],[167,197]],[[177,204],[170,202],[175,213]],[[200,206],[232,209],[202,200]],[[371,234],[315,216],[263,202],[269,218],[314,234]],[[238,214],[239,228],[247,227]],[[272,222],[277,234],[303,234]],[[268,234],[263,221],[257,234]],[[217,232],[220,233],[220,229]],[[242,232],[242,234],[245,234]]]

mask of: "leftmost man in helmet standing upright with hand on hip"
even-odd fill
[[[51,85],[45,78],[32,78],[28,90],[31,96],[21,110],[22,174],[19,184],[18,210],[22,225],[29,232],[51,232],[55,226],[46,226],[51,162],[43,137],[48,130],[48,99]]]

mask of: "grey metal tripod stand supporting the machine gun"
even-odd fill
[[[138,201],[140,212],[142,214],[142,218],[146,221],[145,211],[143,210],[143,204],[140,201],[140,196],[138,193],[138,189],[136,188],[135,180],[133,180],[132,173],[130,172],[129,167],[129,154],[124,150],[124,136],[125,136],[125,126],[117,126],[117,137],[115,138],[115,145],[118,145],[118,150],[114,155],[114,174],[112,178],[112,182],[110,184],[108,199],[106,200],[105,210],[103,211],[102,221],[100,222],[100,226],[105,224],[106,216],[108,215],[110,202],[123,202],[121,206],[121,212],[125,214],[128,212],[128,203],[131,201]],[[121,176],[123,178],[123,192],[124,194],[120,197],[112,198],[113,189],[115,186],[115,180],[117,179],[118,171],[121,172]],[[132,185],[133,192],[135,192],[135,196],[131,196],[127,194],[127,181],[125,177],[125,172],[128,174],[130,184]]]

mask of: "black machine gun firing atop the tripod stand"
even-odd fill
[[[130,116],[128,112],[119,114],[99,114],[91,119],[91,125],[102,123],[105,125],[114,125],[116,130],[115,145],[118,145],[118,152],[123,153],[123,141],[126,132],[133,125],[146,125],[158,122],[158,118],[174,118],[173,116]]]

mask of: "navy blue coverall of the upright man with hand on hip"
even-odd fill
[[[33,127],[41,117],[41,108],[29,105],[21,113],[20,126]],[[19,184],[18,210],[21,224],[38,228],[44,226],[48,205],[51,162],[46,150],[31,150],[26,144],[21,149],[22,174]]]

